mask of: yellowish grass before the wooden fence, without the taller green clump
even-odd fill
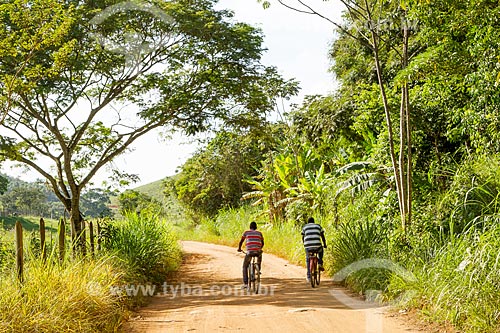
[[[126,316],[111,287],[124,274],[112,258],[63,265],[31,258],[20,284],[0,280],[0,332],[115,332]]]

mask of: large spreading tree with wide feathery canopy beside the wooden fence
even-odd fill
[[[83,189],[139,137],[155,128],[194,134],[214,119],[251,122],[293,92],[294,83],[260,64],[260,31],[230,22],[214,3],[0,7],[1,127],[11,135],[0,138],[0,155],[48,181],[77,235]]]

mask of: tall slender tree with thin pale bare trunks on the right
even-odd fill
[[[263,3],[264,8],[270,5],[269,1],[257,0]],[[412,132],[409,101],[409,73],[404,70],[408,67],[411,54],[408,51],[411,24],[407,17],[406,1],[390,3],[379,0],[350,1],[340,0],[345,6],[345,24],[330,20],[327,16],[314,10],[314,8],[303,1],[299,1],[299,7],[294,7],[283,0],[278,2],[297,12],[316,15],[331,22],[341,36],[348,36],[366,47],[372,52],[373,63],[382,98],[385,113],[386,128],[388,134],[388,146],[391,165],[394,172],[396,191],[398,194],[398,205],[401,214],[402,229],[406,230],[411,223],[412,203]],[[389,24],[386,24],[388,22]],[[394,29],[395,27],[396,29]],[[394,43],[395,38],[399,43]],[[400,48],[399,50],[397,48]],[[396,153],[396,140],[394,137],[394,125],[391,114],[392,108],[387,96],[387,77],[384,69],[387,64],[382,63],[384,52],[393,51],[398,59],[398,71],[400,75],[396,81],[401,89],[400,112],[399,112],[399,154]]]

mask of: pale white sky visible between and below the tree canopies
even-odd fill
[[[296,0],[289,0],[294,4]],[[301,92],[290,102],[300,104],[305,95],[327,94],[334,90],[332,75],[328,72],[328,48],[333,38],[331,23],[316,16],[300,14],[282,7],[271,0],[271,7],[264,10],[257,0],[221,0],[217,8],[228,8],[235,12],[235,20],[249,23],[262,29],[264,45],[268,49],[263,58],[265,65],[276,66],[285,78],[300,82]],[[309,0],[315,9],[336,22],[343,9],[336,0]],[[196,150],[194,144],[182,135],[172,140],[161,139],[158,132],[149,133],[133,146],[134,151],[116,159],[114,166],[120,170],[138,174],[140,186],[175,174]],[[4,163],[3,171],[26,181],[41,178],[37,173],[21,173]],[[104,170],[103,170],[104,171]],[[96,175],[94,186],[98,187],[107,175]]]

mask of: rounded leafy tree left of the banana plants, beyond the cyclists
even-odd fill
[[[255,166],[264,158],[264,137],[260,131],[219,131],[182,166],[173,186],[180,202],[202,216],[238,207],[242,194],[250,190],[243,179],[255,175]]]

